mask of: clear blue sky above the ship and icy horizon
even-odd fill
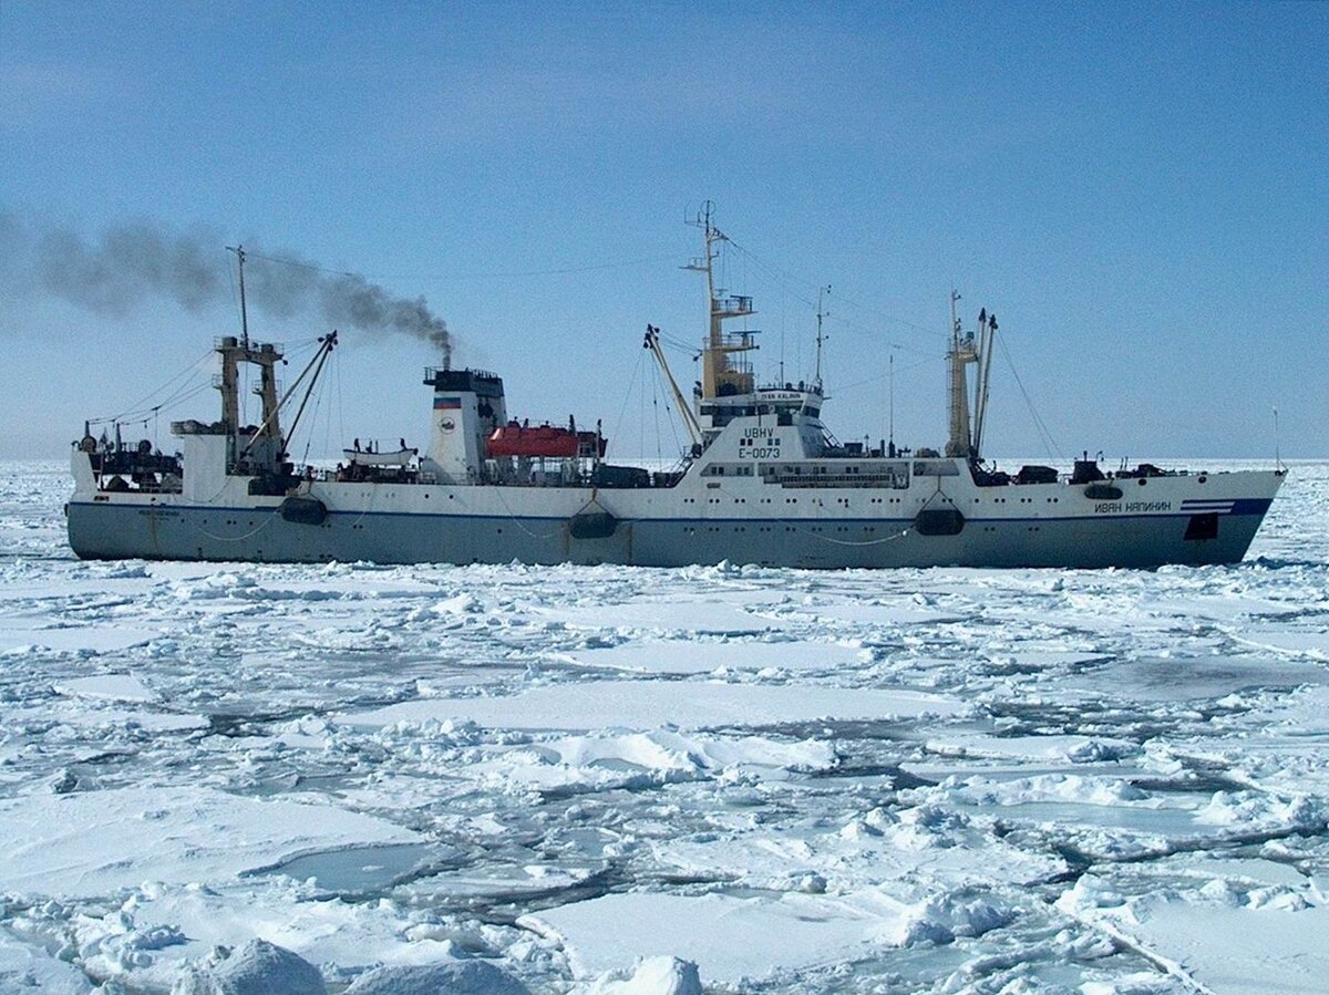
[[[1275,407],[1284,456],[1329,456],[1326,52],[1301,3],[0,0],[0,456],[61,456],[235,329],[229,291],[110,312],[33,279],[51,232],[130,223],[225,280],[245,240],[423,295],[514,414],[670,454],[639,343],[704,333],[706,198],[763,379],[811,373],[831,286],[841,438],[885,433],[894,356],[897,440],[941,444],[956,287],[1001,321],[993,456],[1267,456]],[[423,440],[433,351],[343,341],[311,453]]]

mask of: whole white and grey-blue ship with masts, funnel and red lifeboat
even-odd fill
[[[983,310],[966,331],[956,294],[945,446],[900,448],[893,433],[877,446],[837,441],[823,422],[820,307],[816,376],[759,384],[752,298],[716,288],[728,236],[710,209],[692,223],[703,254],[686,268],[704,276],[708,324],[691,401],[659,329],[647,325],[643,339],[688,437],[670,469],[611,462],[598,422],[509,417],[498,375],[451,363],[425,368],[424,452],[405,438],[395,449],[355,440],[336,468],[296,466],[288,442],[336,332],[279,397],[282,349],[253,343],[246,323],[239,337],[215,343],[221,417],[171,422],[178,452],[126,444],[120,426],[94,438],[85,425],[72,448],[70,547],[88,559],[799,569],[1152,569],[1247,555],[1281,465],[1104,470],[1088,453],[1070,472],[989,464],[997,319]],[[262,417],[243,425],[241,371],[255,367]],[[304,400],[283,432],[302,383]]]

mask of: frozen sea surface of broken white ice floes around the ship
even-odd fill
[[[4,470],[0,992],[1329,990],[1329,465],[1235,567],[835,574],[82,563]]]

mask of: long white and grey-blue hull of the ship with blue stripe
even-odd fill
[[[299,494],[326,507],[318,523],[288,521],[286,498],[250,496],[241,477],[210,502],[93,488],[69,503],[69,541],[80,557],[108,559],[1155,567],[1240,561],[1282,481],[1272,470],[1140,477],[1102,501],[1083,485],[977,486],[962,461],[941,462],[956,476],[913,476],[906,488],[695,473],[626,489],[315,481]],[[960,513],[957,534],[920,530],[918,513],[938,506]],[[587,510],[609,534],[578,537]],[[1197,538],[1201,518],[1215,527]]]

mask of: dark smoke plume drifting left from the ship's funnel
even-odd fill
[[[96,242],[62,228],[29,231],[0,213],[0,252],[7,282],[19,280],[77,307],[125,317],[149,299],[171,300],[198,314],[230,303],[235,256],[210,231],[175,232],[150,222],[105,228]],[[399,298],[356,274],[324,270],[288,251],[246,244],[246,300],[275,317],[318,314],[336,328],[403,332],[424,339],[451,360],[448,325],[424,298]]]

